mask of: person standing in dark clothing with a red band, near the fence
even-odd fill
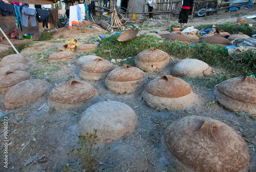
[[[180,15],[179,15],[180,27],[183,27],[184,24],[187,23],[189,9],[190,9],[190,0],[182,0],[181,10],[180,10]]]

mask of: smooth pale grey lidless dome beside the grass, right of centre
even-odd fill
[[[211,74],[207,63],[198,59],[183,59],[176,63],[172,69],[173,76],[204,77]]]

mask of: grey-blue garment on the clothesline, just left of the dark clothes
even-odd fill
[[[22,9],[22,19],[23,19],[23,26],[28,27],[28,21],[30,17],[31,26],[36,26],[36,11],[34,8],[23,7]]]

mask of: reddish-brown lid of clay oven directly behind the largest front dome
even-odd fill
[[[159,97],[177,98],[190,94],[192,90],[186,81],[165,75],[148,83],[145,91]]]

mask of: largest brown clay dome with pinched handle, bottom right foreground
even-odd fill
[[[250,160],[244,139],[230,126],[208,117],[174,121],[165,130],[165,142],[183,168],[187,165],[197,171],[239,171]]]

